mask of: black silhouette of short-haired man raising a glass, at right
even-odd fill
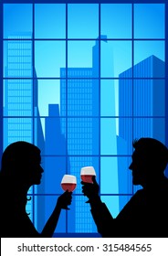
[[[133,143],[130,170],[133,185],[141,185],[130,201],[113,219],[101,202],[99,185],[81,182],[89,197],[91,214],[102,237],[168,237],[168,179],[164,169],[168,150],[159,141],[141,138]]]

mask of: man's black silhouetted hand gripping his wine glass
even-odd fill
[[[92,200],[96,200],[99,197],[100,186],[98,185],[95,176],[92,176],[92,181],[93,183],[81,181],[81,184],[83,185],[82,193],[84,196],[89,197],[88,203]]]

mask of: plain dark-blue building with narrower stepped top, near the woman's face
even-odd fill
[[[66,138],[61,131],[59,105],[48,105],[48,116],[45,120],[45,193],[53,196],[45,197],[47,208],[44,209],[45,222],[55,208],[56,195],[64,191],[60,186],[62,176],[69,170],[69,159],[66,157]],[[56,194],[56,195],[55,195]],[[70,207],[73,211],[73,206]],[[66,213],[62,212],[58,221],[57,233],[66,232]]]

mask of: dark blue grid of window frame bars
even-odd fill
[[[58,40],[61,40],[61,39],[52,39],[52,38],[47,38],[47,39],[43,39],[43,38],[40,38],[40,39],[37,39],[37,38],[35,38],[35,5],[37,4],[37,3],[41,3],[41,4],[44,4],[45,2],[44,1],[16,1],[15,2],[15,4],[16,3],[22,3],[22,4],[26,4],[26,3],[30,3],[30,4],[32,4],[33,5],[33,37],[32,37],[32,39],[30,39],[31,41],[32,41],[32,46],[33,46],[33,53],[32,53],[32,55],[33,55],[33,69],[35,68],[35,42],[36,42],[36,40],[47,40],[47,41],[50,41],[50,40],[56,40],[56,41],[58,41]],[[65,41],[66,41],[66,84],[68,85],[68,41],[69,40],[75,40],[74,38],[73,39],[69,39],[68,38],[68,2],[69,1],[64,1],[64,3],[62,3],[61,1],[60,1],[60,3],[61,4],[65,4],[66,3],[66,38],[64,39]],[[78,3],[79,3],[79,1],[77,1]],[[88,3],[88,1],[84,1],[86,4]],[[101,2],[102,1],[93,1],[93,3],[97,3],[98,4],[98,2],[99,2],[99,15],[100,15],[100,4],[101,4]],[[0,12],[1,12],[1,14],[3,14],[3,5],[4,4],[11,4],[10,3],[10,1],[2,1],[2,5],[1,5],[1,9],[0,9]],[[56,3],[56,4],[58,4],[59,2],[58,1],[49,1],[47,4],[49,4],[49,3]],[[72,3],[72,1],[70,1],[69,3]],[[74,4],[76,3],[76,1],[74,1]],[[90,3],[90,2],[89,2]],[[120,1],[120,3],[119,2],[116,2],[116,1],[107,1],[107,3],[108,4],[114,4],[114,3],[116,3],[116,4],[121,4],[122,3],[122,1]],[[130,39],[128,39],[128,40],[130,40],[131,42],[132,42],[132,59],[131,59],[131,62],[132,62],[132,67],[131,68],[133,68],[133,63],[134,63],[134,40],[145,40],[145,39],[135,39],[134,38],[134,35],[133,35],[133,31],[134,31],[134,17],[133,17],[133,12],[134,12],[134,8],[133,8],[133,6],[134,6],[134,4],[137,4],[137,3],[140,3],[140,4],[145,4],[145,1],[143,2],[143,1],[128,1],[127,3],[125,3],[125,2],[123,2],[123,4],[131,4],[131,7],[132,7],[132,12],[131,12],[131,15],[132,15],[132,21],[131,21],[131,27],[132,27],[132,36],[131,36],[131,38]],[[158,3],[158,4],[164,4],[164,12],[165,12],[165,37],[164,37],[164,39],[162,38],[162,39],[154,39],[154,38],[152,38],[152,39],[150,39],[150,40],[163,40],[164,42],[165,42],[165,68],[167,68],[167,59],[168,59],[168,33],[166,33],[166,27],[168,26],[168,16],[166,15],[166,10],[168,10],[168,3],[166,3],[165,1],[151,1],[150,2],[151,4],[153,3],[153,4],[155,4],[155,3]],[[104,4],[104,2],[103,2],[103,4]],[[168,13],[168,12],[167,12]],[[2,17],[2,19],[3,19],[3,15],[1,16]],[[2,23],[3,24],[3,23]],[[2,42],[1,42],[1,48],[3,49],[3,44],[4,44],[4,42],[5,42],[5,40],[7,40],[7,39],[5,39],[4,38],[4,35],[3,35],[3,29],[1,30],[1,37],[3,38],[3,40],[2,40]],[[100,16],[99,16],[99,37],[100,37]],[[14,39],[11,39],[11,40],[14,40]],[[78,39],[78,38],[76,38],[76,40],[85,40],[85,39]],[[88,39],[86,39],[86,40],[88,40]],[[94,40],[94,39],[89,39],[89,40]],[[114,40],[114,39],[108,39],[108,40]],[[117,40],[117,39],[115,39],[115,40]],[[119,39],[119,40],[126,40],[126,39]],[[149,40],[149,39],[146,39],[146,40]],[[100,42],[101,42],[101,39],[99,39],[99,53],[100,53]],[[100,58],[100,57],[99,57]],[[1,60],[1,63],[2,63],[2,67],[4,67],[4,63],[3,63],[3,59]],[[35,77],[34,77],[34,72],[33,72],[33,77],[31,78],[32,80],[33,80],[33,84],[34,84],[34,80],[35,80]],[[8,80],[8,79],[13,79],[13,78],[5,78],[4,77],[4,71],[3,70],[1,70],[1,77],[3,78],[2,80],[1,80],[1,85],[2,85],[2,90],[3,90],[3,83],[4,83],[4,80]],[[15,79],[24,79],[24,78],[15,78]],[[25,79],[27,79],[27,78],[25,78]],[[58,79],[58,80],[60,80],[60,78],[39,78],[39,80],[43,80],[43,79],[51,79],[51,80],[53,80],[53,79]],[[77,78],[78,79],[78,78]],[[100,91],[100,80],[108,80],[108,79],[112,79],[112,80],[115,80],[115,79],[118,79],[118,80],[120,80],[119,78],[101,78],[100,77],[100,61],[99,61],[99,78],[98,78],[98,80],[99,80],[99,91]],[[144,80],[144,78],[134,78],[134,76],[133,76],[133,72],[132,72],[132,77],[131,78],[129,78],[129,79],[131,79],[132,80],[132,84],[133,84],[133,81],[134,80],[136,80],[136,79],[142,79],[142,80]],[[148,79],[148,78],[145,78],[145,79]],[[154,79],[161,79],[161,78],[154,78]],[[153,78],[151,79],[151,80],[154,80]],[[85,78],[84,78],[84,80],[85,80]],[[150,78],[149,78],[149,80],[150,80]],[[164,78],[163,78],[163,80],[165,80],[165,84],[167,84],[167,81],[168,81],[168,73],[167,72],[165,72],[165,76],[164,76]],[[33,87],[34,88],[34,87]],[[166,90],[166,93],[165,93],[165,100],[166,100],[166,95],[167,95],[167,91],[168,91],[168,89],[167,89],[167,87],[165,86],[165,90]],[[132,86],[132,92],[133,92],[133,86]],[[2,93],[2,95],[3,95],[3,93]],[[132,95],[133,95],[133,93],[132,93]],[[3,102],[3,96],[1,97],[1,101]],[[0,101],[0,103],[1,103],[1,101]],[[66,101],[68,101],[68,86],[66,86]],[[1,104],[1,106],[2,106],[3,104]],[[33,99],[33,106],[34,106],[34,99]],[[167,118],[168,118],[168,114],[167,114],[167,110],[168,110],[168,102],[167,101],[165,101],[165,116],[164,116],[164,119],[165,119],[165,125],[167,126]],[[3,113],[3,110],[1,111],[1,114],[2,114],[2,118],[1,118],[1,123],[3,123],[3,120],[4,120],[4,118],[6,118],[5,116],[4,116],[4,113]],[[43,118],[43,117],[46,117],[46,116],[40,116],[39,118]],[[62,116],[61,116],[62,117]],[[74,117],[74,116],[73,116]],[[85,116],[84,116],[85,117]],[[116,116],[109,116],[108,118],[118,118],[118,117],[116,117]],[[154,117],[150,117],[150,118],[156,118],[157,116],[154,116]],[[11,118],[11,117],[10,117]],[[14,117],[14,118],[16,118],[16,117]],[[22,118],[24,118],[24,117],[22,117]],[[27,118],[27,116],[26,116],[26,118]],[[31,118],[32,118],[32,120],[33,120],[33,126],[35,127],[35,119],[37,118],[36,117],[36,115],[35,115],[35,109],[34,109],[34,107],[33,107],[33,115],[31,116]],[[69,118],[69,116],[68,116],[68,108],[66,107],[66,116],[65,116],[65,118],[66,118],[66,136],[68,137],[68,118]],[[100,129],[100,120],[101,120],[101,118],[107,118],[107,116],[101,116],[100,115],[100,110],[99,110],[99,115],[96,117],[96,118],[98,118],[99,119],[99,129]],[[120,117],[119,116],[119,118],[122,118],[122,117]],[[125,118],[125,117],[124,117]],[[133,97],[132,97],[132,116],[130,116],[129,118],[131,118],[132,119],[132,121],[133,121],[133,119],[134,118],[137,118],[137,116],[136,117],[134,117],[134,115],[133,115]],[[143,116],[141,117],[141,118],[144,118]],[[147,117],[145,117],[145,118],[149,118],[148,116]],[[163,118],[163,117],[159,117],[159,118]],[[3,126],[2,126],[3,127]],[[33,128],[33,131],[34,131],[34,128]],[[133,133],[133,131],[134,131],[134,129],[133,129],[133,122],[132,122],[132,133]],[[3,135],[2,135],[3,133],[1,133],[1,137],[3,137]],[[132,134],[133,135],[133,134]],[[165,136],[166,136],[166,144],[167,144],[167,142],[168,142],[168,134],[167,133],[165,133]],[[99,133],[99,139],[100,139],[100,133]],[[33,133],[33,142],[35,141],[35,133]],[[68,142],[66,142],[66,148],[67,148],[67,150],[66,150],[66,156],[69,156],[68,155]],[[2,149],[1,149],[2,150]],[[60,156],[60,155],[59,155]],[[73,155],[74,156],[74,155]],[[78,156],[81,156],[81,155],[78,155]],[[99,155],[96,155],[96,156],[99,156],[99,159],[100,159],[100,157],[102,156],[101,154],[100,154],[100,150],[99,150]],[[103,155],[104,156],[104,155]],[[116,156],[116,155],[108,155],[108,156]],[[118,156],[118,155],[117,155]],[[121,155],[120,155],[121,156]],[[122,155],[122,156],[124,156],[124,155]],[[131,155],[125,155],[125,156],[131,156]],[[67,161],[68,162],[68,161]],[[100,163],[100,160],[99,160],[99,163]],[[68,165],[68,163],[67,163],[67,165]],[[66,168],[67,169],[67,168]],[[133,194],[133,186],[132,186],[132,194]],[[131,195],[132,195],[131,194]],[[36,194],[35,193],[35,188],[34,188],[34,190],[33,190],[33,193],[32,194],[30,194],[31,196],[33,196],[33,197],[35,197],[35,196],[42,196],[41,194]],[[46,195],[46,196],[51,196],[52,194],[44,194],[44,195]],[[53,194],[53,195],[59,195],[59,194]],[[74,196],[79,196],[80,194],[75,194]],[[104,195],[108,195],[108,196],[120,196],[120,195],[122,195],[122,194],[101,194],[102,196],[104,196]],[[127,194],[123,194],[123,195],[127,195]],[[130,194],[128,194],[128,195],[130,195]],[[35,221],[35,209],[33,208],[33,219],[34,219],[34,221]],[[68,233],[68,215],[67,215],[67,217],[66,217],[66,219],[67,219],[67,224],[66,224],[66,233]]]

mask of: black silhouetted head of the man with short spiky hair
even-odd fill
[[[130,169],[134,185],[143,185],[163,176],[168,162],[168,149],[160,141],[141,138],[133,142],[134,152]]]

